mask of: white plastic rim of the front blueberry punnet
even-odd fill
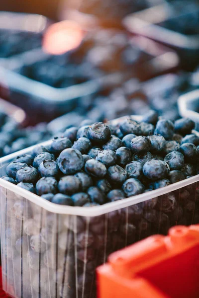
[[[46,146],[49,145],[50,141],[40,143],[40,145]],[[7,162],[10,159],[14,159],[15,157],[28,153],[33,149],[35,146],[29,147],[27,149],[23,149],[20,151],[17,151],[15,153],[9,154],[7,156],[0,158],[0,168],[3,166],[2,164]],[[36,194],[33,194],[25,189],[22,189],[18,187],[17,185],[14,185],[8,181],[5,181],[0,178],[0,186],[4,187],[5,189],[8,189],[14,193],[16,193],[19,196],[24,197],[28,201],[44,208],[45,210],[56,213],[56,214],[65,214],[65,215],[75,215],[75,216],[84,216],[84,217],[95,217],[100,216],[118,209],[126,208],[134,204],[138,204],[144,201],[148,201],[152,198],[162,196],[166,193],[175,191],[179,188],[185,187],[187,185],[190,185],[192,183],[199,182],[199,174],[195,175],[194,177],[182,180],[180,182],[174,183],[172,185],[165,186],[163,188],[159,188],[157,190],[152,190],[150,192],[136,195],[133,197],[129,197],[123,200],[119,200],[117,202],[111,202],[106,203],[101,206],[97,207],[72,207],[72,206],[64,206],[64,205],[58,205],[51,203],[47,201],[44,198],[41,198],[37,196]]]

